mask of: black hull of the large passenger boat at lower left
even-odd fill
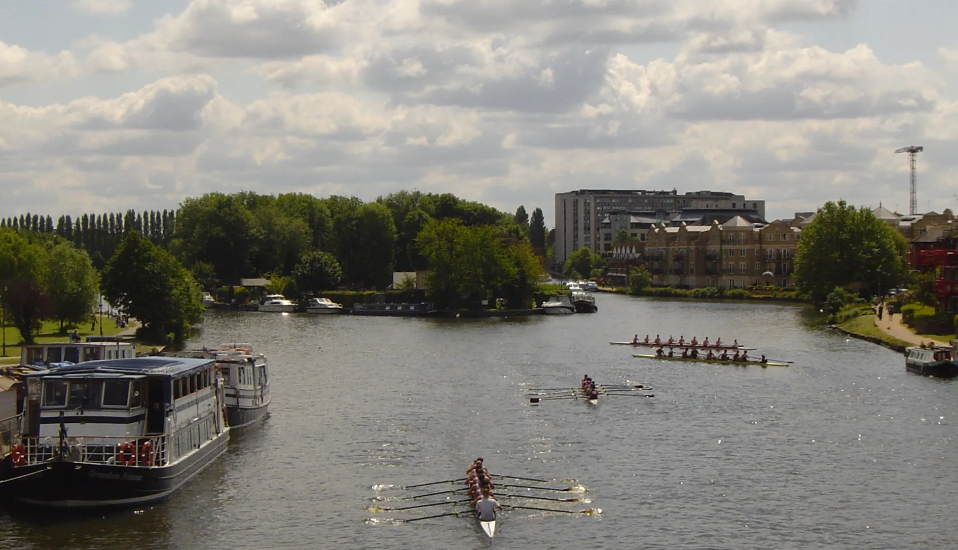
[[[56,510],[140,506],[168,498],[226,450],[229,431],[171,466],[144,468],[52,462],[14,468],[10,488],[19,503]],[[27,475],[32,474],[32,475]]]

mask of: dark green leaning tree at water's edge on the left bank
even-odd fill
[[[193,276],[170,253],[128,232],[103,270],[103,295],[137,318],[141,337],[179,341],[203,312]]]

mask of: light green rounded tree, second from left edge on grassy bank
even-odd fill
[[[90,256],[65,241],[57,243],[48,258],[46,286],[51,318],[59,322],[62,333],[66,325],[77,325],[90,318],[97,303],[100,277]]]

